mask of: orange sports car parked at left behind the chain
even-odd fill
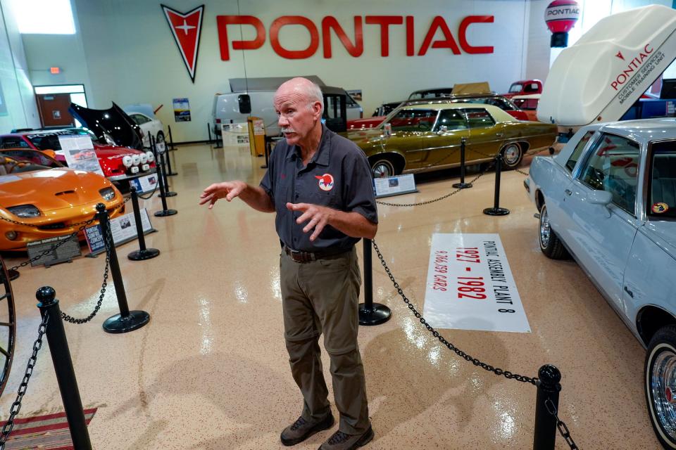
[[[74,233],[94,217],[97,203],[111,218],[125,211],[122,194],[104,176],[68,169],[38,150],[0,149],[0,250]]]

